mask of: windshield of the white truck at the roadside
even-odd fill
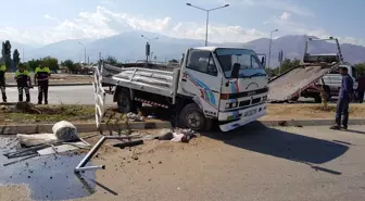
[[[218,62],[226,78],[232,78],[234,65],[239,65],[239,77],[266,76],[256,53],[247,49],[216,49]]]

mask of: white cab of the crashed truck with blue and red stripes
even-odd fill
[[[217,120],[221,130],[234,129],[266,114],[264,62],[249,49],[189,49],[181,61],[177,91],[191,98],[205,118]]]

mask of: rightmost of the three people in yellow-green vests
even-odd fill
[[[48,104],[48,86],[51,72],[49,67],[45,66],[43,63],[40,63],[39,67],[36,67],[35,71],[35,85],[38,84],[38,104],[42,103],[45,96],[45,104]]]

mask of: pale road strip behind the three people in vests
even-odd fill
[[[8,102],[17,101],[17,88],[8,87]],[[50,86],[48,91],[49,104],[95,104],[92,86]],[[0,99],[1,100],[1,99]],[[24,98],[25,100],[25,98]],[[38,88],[30,89],[30,101],[37,103]],[[112,96],[106,96],[106,103],[113,104]]]

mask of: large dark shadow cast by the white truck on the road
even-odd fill
[[[260,122],[231,133],[215,131],[203,135],[237,148],[310,165],[331,161],[349,149],[348,146],[333,141],[269,128]]]

